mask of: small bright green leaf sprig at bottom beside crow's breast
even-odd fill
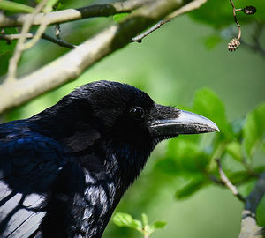
[[[139,231],[145,237],[149,237],[156,230],[162,229],[167,223],[163,220],[157,220],[152,225],[148,225],[148,216],[145,213],[141,214],[142,221],[133,219],[130,214],[117,212],[113,217],[113,222],[118,227],[128,227]]]

